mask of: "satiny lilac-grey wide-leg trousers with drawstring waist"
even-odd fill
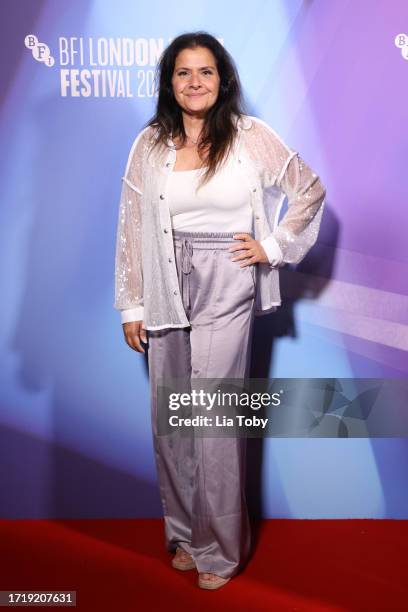
[[[190,553],[198,571],[233,576],[250,549],[243,437],[157,435],[162,377],[249,376],[257,266],[240,268],[234,233],[173,230],[190,327],[148,330],[151,417],[167,550]]]

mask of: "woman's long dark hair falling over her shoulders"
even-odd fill
[[[153,146],[159,144],[167,146],[170,133],[173,134],[173,137],[178,136],[181,143],[184,144],[186,133],[182,109],[174,97],[171,81],[177,55],[183,49],[194,49],[195,47],[206,47],[211,51],[220,76],[218,98],[205,116],[198,143],[198,154],[207,166],[201,177],[200,185],[202,185],[215,174],[230,151],[237,132],[233,115],[245,114],[241,84],[234,60],[214,36],[203,31],[189,32],[177,36],[166,47],[156,68],[155,81],[158,91],[156,113],[145,124],[145,127],[158,128]],[[202,153],[206,147],[208,147],[208,153],[204,159]]]

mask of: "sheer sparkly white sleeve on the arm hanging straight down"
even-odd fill
[[[114,308],[122,323],[143,320],[142,195],[143,133],[130,150],[119,200]]]

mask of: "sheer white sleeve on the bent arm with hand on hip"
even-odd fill
[[[300,155],[261,120],[255,125],[254,141],[263,160],[263,187],[273,185],[288,198],[286,214],[265,239],[265,245],[271,249],[272,242],[276,241],[275,265],[299,263],[317,240],[326,190]]]

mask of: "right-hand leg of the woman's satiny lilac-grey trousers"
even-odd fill
[[[212,266],[213,299],[205,308],[202,301],[194,301],[192,282],[193,378],[249,376],[255,287],[252,271],[242,271],[234,262],[232,267],[229,257],[217,251],[211,260],[201,258],[203,267]],[[196,263],[200,265],[199,254]],[[194,443],[194,559],[199,572],[232,576],[245,563],[251,542],[245,498],[246,438],[196,437]]]

